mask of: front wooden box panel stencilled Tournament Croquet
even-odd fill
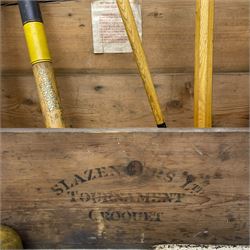
[[[33,249],[248,244],[247,131],[2,132],[2,223]]]

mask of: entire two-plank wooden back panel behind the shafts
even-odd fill
[[[90,2],[41,3],[66,125],[155,126],[133,55],[93,54]],[[248,7],[248,0],[215,1],[214,127],[248,126]],[[195,0],[143,0],[142,14],[143,46],[167,123],[193,127]],[[15,1],[5,1],[1,20],[2,127],[43,127]]]

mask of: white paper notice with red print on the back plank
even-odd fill
[[[142,37],[141,7],[138,0],[130,0],[137,28]],[[94,53],[132,52],[116,0],[93,0],[92,29]]]

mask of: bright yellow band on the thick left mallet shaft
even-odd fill
[[[50,62],[51,56],[43,23],[28,22],[23,28],[31,63]]]

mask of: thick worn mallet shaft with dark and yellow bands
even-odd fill
[[[19,0],[18,4],[45,125],[47,128],[64,128],[60,97],[39,5],[36,0]]]

